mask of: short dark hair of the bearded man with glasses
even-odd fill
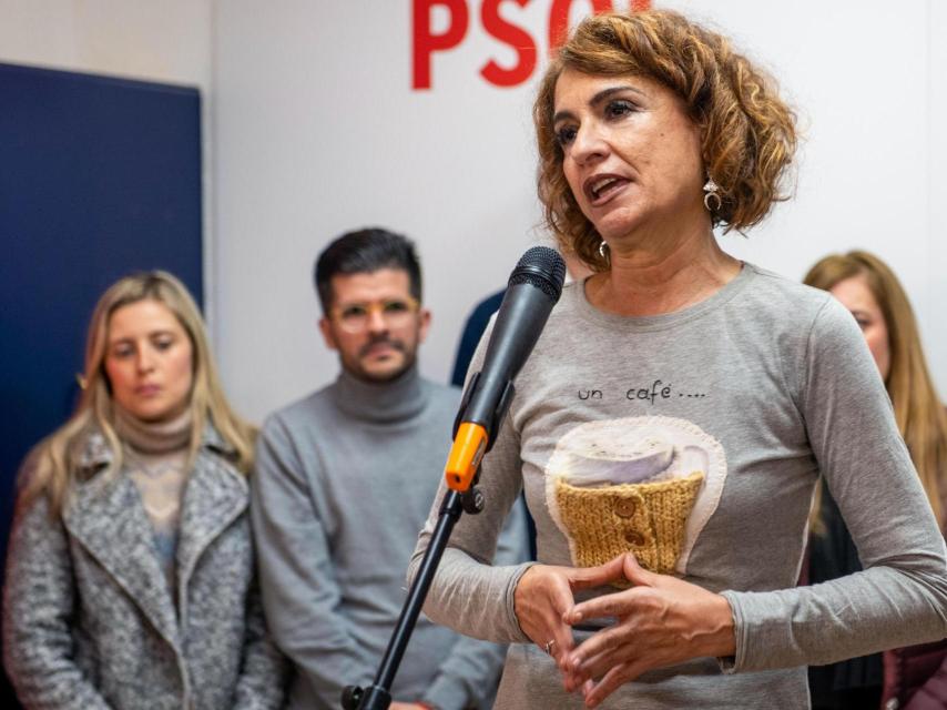
[[[381,227],[348,232],[326,246],[316,260],[316,293],[328,314],[332,307],[332,277],[336,274],[366,274],[380,268],[408,272],[411,295],[421,301],[421,265],[415,243]]]

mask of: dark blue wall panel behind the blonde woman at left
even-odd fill
[[[99,295],[165,268],[202,300],[200,101],[0,64],[0,549],[20,462],[75,402]]]

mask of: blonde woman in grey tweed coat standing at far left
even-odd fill
[[[30,454],[10,538],[8,673],[26,708],[278,708],[246,473],[197,307],[122,278],[89,328],[72,418]]]

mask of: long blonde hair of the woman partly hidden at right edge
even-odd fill
[[[947,496],[947,413],[927,369],[920,333],[907,294],[894,272],[877,256],[854,251],[831,254],[816,263],[803,282],[829,291],[846,278],[861,276],[875,297],[888,329],[890,368],[885,381],[917,475],[941,527]],[[814,508],[816,511],[818,507]],[[814,525],[817,529],[818,525]]]

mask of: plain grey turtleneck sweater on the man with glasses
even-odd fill
[[[371,682],[459,398],[414,368],[385,384],[343,373],[265,422],[252,519],[266,618],[297,671],[291,708],[338,708],[346,684]],[[520,516],[500,540],[498,564],[525,559]],[[489,707],[505,652],[421,616],[393,698]]]

